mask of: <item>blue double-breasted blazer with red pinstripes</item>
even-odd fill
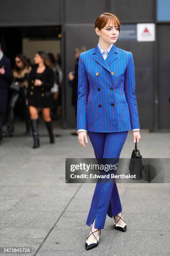
[[[77,130],[122,132],[140,128],[135,67],[130,51],[113,44],[104,59],[96,45],[78,67]]]

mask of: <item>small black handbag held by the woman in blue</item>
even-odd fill
[[[130,175],[136,175],[135,177],[130,179],[141,180],[142,179],[142,171],[143,171],[143,162],[142,155],[140,154],[139,149],[137,148],[137,142],[135,142],[135,148],[132,151],[132,155],[129,163],[129,172]]]

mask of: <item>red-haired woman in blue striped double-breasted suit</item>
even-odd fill
[[[133,55],[115,46],[120,22],[111,13],[95,20],[98,44],[80,54],[78,69],[77,131],[80,144],[86,147],[87,131],[96,159],[118,159],[133,131],[133,142],[140,140],[140,124],[135,95]],[[85,140],[85,142],[84,142]],[[115,228],[126,231],[115,182],[98,182],[92,197],[86,224],[92,224],[85,246],[98,245],[106,215],[115,220]]]

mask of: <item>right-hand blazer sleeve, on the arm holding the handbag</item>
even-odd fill
[[[135,65],[131,52],[129,52],[128,65],[125,70],[124,91],[126,100],[128,102],[132,130],[138,129],[140,128],[140,123],[135,94]]]

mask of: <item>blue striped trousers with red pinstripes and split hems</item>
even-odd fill
[[[95,157],[119,159],[120,152],[128,136],[128,131],[115,133],[96,133],[88,131]],[[90,226],[95,219],[95,228],[103,229],[106,216],[110,218],[122,211],[116,182],[109,179],[107,182],[96,183],[92,197],[90,211],[86,224]]]

